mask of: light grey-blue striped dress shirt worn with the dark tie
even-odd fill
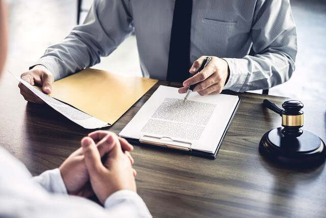
[[[95,65],[134,30],[143,76],[166,80],[174,3],[95,0],[84,24],[35,64],[58,80]],[[225,59],[230,78],[224,89],[267,89],[289,80],[296,51],[289,0],[193,0],[191,63],[203,55]]]

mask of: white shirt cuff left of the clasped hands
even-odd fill
[[[32,180],[49,192],[68,195],[67,188],[62,179],[59,168],[45,171],[41,175],[33,177]]]

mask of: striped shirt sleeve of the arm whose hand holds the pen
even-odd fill
[[[288,0],[258,0],[250,34],[254,55],[224,58],[230,68],[224,89],[268,89],[289,80],[294,71],[296,31]]]

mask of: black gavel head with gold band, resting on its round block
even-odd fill
[[[304,105],[300,101],[290,100],[282,104],[282,133],[285,136],[300,136],[304,125],[304,112],[301,110]]]

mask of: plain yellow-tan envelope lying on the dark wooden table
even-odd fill
[[[113,125],[158,80],[87,68],[53,83],[53,98]]]

